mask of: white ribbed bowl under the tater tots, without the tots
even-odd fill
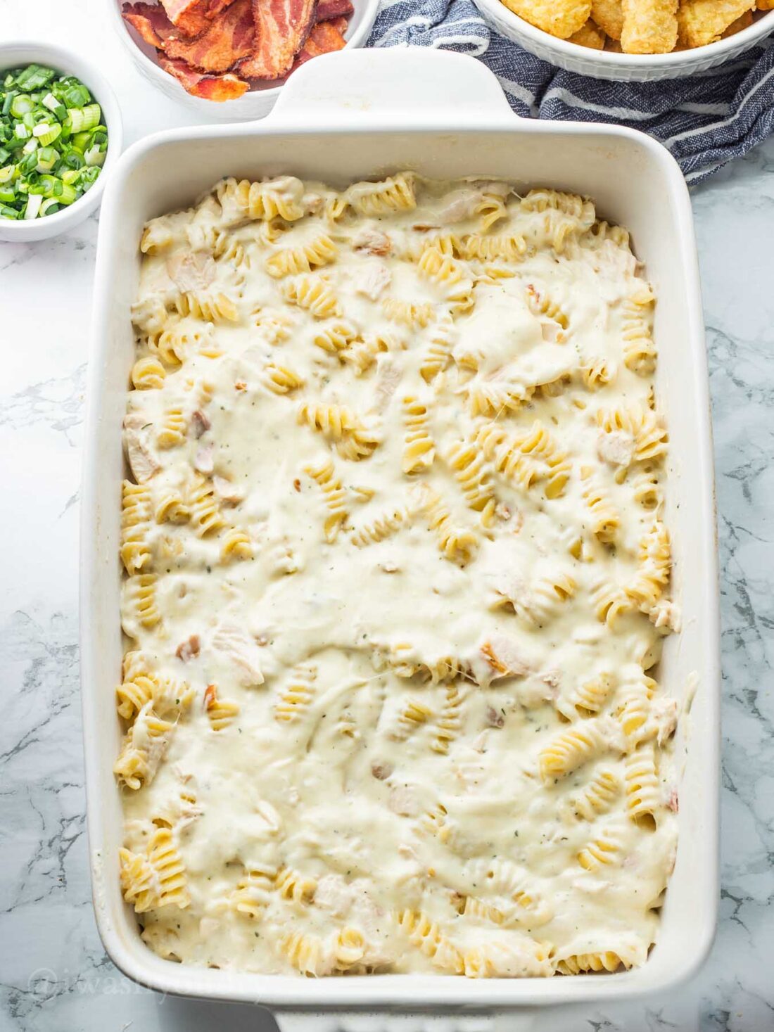
[[[747,29],[728,39],[719,39],[707,46],[673,54],[616,54],[613,51],[593,51],[588,46],[557,39],[542,29],[514,14],[501,0],[473,0],[484,21],[502,36],[529,51],[536,57],[567,71],[575,71],[592,78],[618,79],[628,83],[656,82],[663,78],[681,78],[692,72],[706,71],[738,57],[754,46],[764,36],[774,32],[774,11],[764,14]]]

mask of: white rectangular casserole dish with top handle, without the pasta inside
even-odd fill
[[[421,107],[417,97],[423,98]],[[118,559],[122,418],[133,334],[129,305],[147,219],[193,201],[224,174],[282,171],[344,186],[402,168],[443,178],[507,178],[589,194],[601,217],[633,232],[658,297],[657,388],[672,441],[667,518],[684,614],[668,639],[662,679],[681,701],[680,844],[659,941],[647,964],[608,977],[484,979],[370,975],[304,979],[202,970],[142,943],[119,888],[122,837],[111,768],[120,743],[114,686],[123,653]],[[425,50],[357,51],[310,62],[275,114],[238,127],[152,136],[122,159],[100,222],[82,524],[82,672],[89,834],[97,922],[130,977],[164,992],[279,1008],[460,1007],[503,1010],[620,1000],[686,978],[715,926],[719,766],[719,631],[707,368],[690,205],[677,164],[647,136],[610,126],[522,122],[494,76],[471,58]],[[689,708],[689,715],[687,709]],[[527,1019],[527,1011],[522,1013]],[[521,1027],[521,1026],[519,1026]]]

